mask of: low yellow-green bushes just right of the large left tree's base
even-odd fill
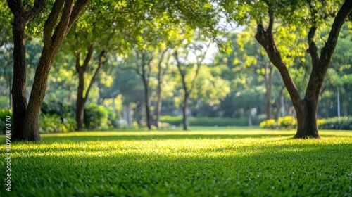
[[[42,114],[39,120],[39,133],[66,133],[74,132],[76,129],[76,121],[73,117],[60,117],[57,114]]]

